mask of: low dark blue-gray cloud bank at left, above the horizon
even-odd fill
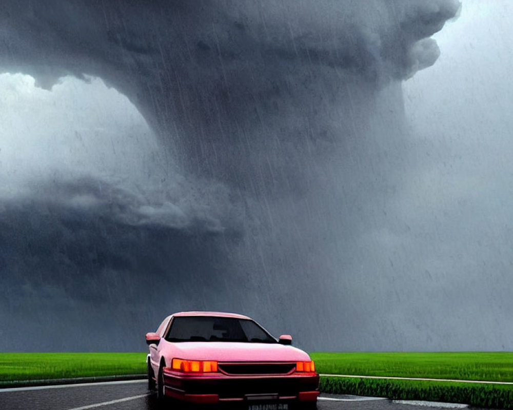
[[[162,316],[152,300],[207,309],[236,279],[223,252],[239,240],[233,229],[220,235],[210,221],[176,223],[175,215],[151,220],[140,198],[101,180],[54,185],[2,203],[0,317],[19,342],[3,348],[139,349],[134,335]]]

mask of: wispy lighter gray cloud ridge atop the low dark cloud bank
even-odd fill
[[[203,188],[203,189],[202,189]],[[25,197],[18,197],[16,202],[30,202],[37,198],[38,202],[48,206],[62,207],[77,216],[81,213],[92,213],[96,217],[114,220],[128,226],[161,226],[163,228],[222,232],[227,229],[233,230],[241,221],[236,215],[229,213],[229,198],[222,192],[223,187],[217,187],[218,195],[214,199],[208,188],[196,182],[195,186],[166,186],[161,184],[161,189],[167,191],[166,196],[161,196],[155,202],[156,195],[151,191],[121,188],[113,185],[113,182],[94,177],[75,177],[71,180],[60,178],[50,181],[43,181],[37,184],[30,194]],[[189,191],[189,192],[187,192]],[[190,192],[192,191],[192,192]],[[196,192],[194,192],[196,191]],[[203,197],[207,200],[215,200],[215,205],[223,207],[222,214],[219,210],[210,207],[208,213],[201,213],[198,209],[180,208],[180,196],[187,195],[202,196],[196,200],[200,205]],[[152,201],[153,200],[153,201]],[[185,203],[186,206],[189,203]],[[199,207],[198,207],[199,208]],[[217,214],[217,215],[216,215]],[[215,216],[230,219],[215,219]]]

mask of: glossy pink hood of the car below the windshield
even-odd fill
[[[180,342],[169,343],[169,358],[216,361],[307,361],[302,350],[278,343]]]

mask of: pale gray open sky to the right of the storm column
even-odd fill
[[[507,1],[464,1],[459,19],[434,36],[437,63],[403,85],[416,170],[398,212],[418,233],[406,249],[426,245],[416,264],[442,283],[433,291],[444,295],[445,320],[474,329],[472,349],[495,336],[494,348],[510,349],[513,333],[511,11]]]

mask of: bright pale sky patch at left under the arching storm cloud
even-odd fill
[[[3,195],[55,174],[147,177],[156,142],[125,96],[100,79],[64,77],[51,91],[34,83],[29,75],[0,74]]]

